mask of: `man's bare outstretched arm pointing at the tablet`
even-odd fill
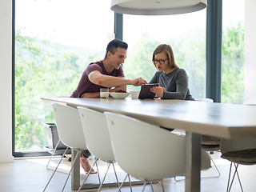
[[[90,72],[88,75],[90,82],[98,85],[98,86],[106,86],[106,87],[118,87],[118,86],[142,86],[142,84],[146,84],[146,80],[143,78],[135,78],[135,79],[126,79],[120,77],[113,77],[110,75],[101,74],[98,70],[94,70]]]

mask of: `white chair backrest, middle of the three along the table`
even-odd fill
[[[105,162],[114,162],[110,134],[105,115],[96,110],[78,106],[86,145],[90,153]]]

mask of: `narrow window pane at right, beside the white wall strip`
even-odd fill
[[[244,0],[223,0],[222,102],[244,100]]]

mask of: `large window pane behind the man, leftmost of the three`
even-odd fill
[[[70,96],[104,58],[114,12],[110,0],[16,0],[15,29],[15,151],[43,150],[54,115],[40,98]]]

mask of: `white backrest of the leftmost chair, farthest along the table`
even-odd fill
[[[70,148],[86,150],[86,140],[78,110],[62,104],[52,104],[57,124],[58,136]]]

